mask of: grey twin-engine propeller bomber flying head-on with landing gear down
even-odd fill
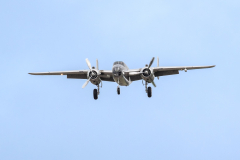
[[[179,74],[179,70],[187,72],[189,69],[202,69],[212,68],[213,66],[192,66],[192,67],[159,67],[159,58],[157,59],[157,67],[151,67],[154,61],[154,57],[150,61],[149,65],[139,69],[129,69],[127,65],[122,61],[116,61],[113,63],[112,70],[99,70],[98,60],[96,60],[96,68],[91,67],[91,63],[86,59],[89,70],[75,70],[75,71],[63,71],[63,72],[39,72],[29,73],[31,75],[67,75],[67,78],[74,79],[87,79],[82,88],[85,88],[90,81],[96,85],[98,89],[93,90],[93,98],[98,99],[99,85],[102,81],[116,82],[118,84],[117,93],[120,95],[120,86],[129,86],[132,81],[141,80],[145,81],[145,90],[148,97],[152,97],[152,88],[147,87],[148,83],[152,83],[154,87],[154,78],[159,76],[166,76],[172,74]]]

